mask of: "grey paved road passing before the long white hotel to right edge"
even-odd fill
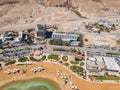
[[[45,48],[46,46],[46,48]],[[112,49],[112,48],[101,48],[101,47],[72,47],[72,46],[58,46],[58,45],[49,45],[49,44],[40,44],[40,45],[33,45],[32,48],[39,48],[43,47],[43,53],[50,53],[50,54],[64,54],[64,55],[77,55],[76,53],[67,52],[67,51],[53,51],[55,48],[64,49],[64,50],[71,50],[76,49],[77,51],[86,51],[88,56],[106,56],[106,53],[120,53],[120,48]]]

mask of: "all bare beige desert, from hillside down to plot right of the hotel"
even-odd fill
[[[112,33],[93,40],[96,34],[88,34],[84,22],[100,20],[100,16],[111,19],[120,11],[119,5],[119,0],[0,0],[0,30],[22,30],[38,23],[55,24],[57,32],[74,32],[77,27],[85,38],[91,37],[86,44],[115,46],[118,38]],[[76,15],[73,8],[87,19]]]

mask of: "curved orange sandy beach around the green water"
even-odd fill
[[[33,67],[39,67],[43,66],[45,68],[42,72],[33,73],[30,71]],[[4,71],[8,69],[27,69],[27,73],[22,75],[21,73],[16,74],[10,74],[7,75],[4,73]],[[69,83],[63,86],[63,79],[60,78],[60,76],[57,75],[56,71],[59,70],[62,73],[66,74],[69,77],[69,82],[73,82],[75,85],[78,86],[79,90],[119,90],[120,84],[117,83],[94,83],[89,82],[83,79],[78,78],[75,74],[71,73],[61,65],[50,63],[50,62],[40,62],[36,63],[30,66],[9,66],[8,68],[4,68],[0,71],[0,85],[4,85],[8,82],[14,81],[14,80],[24,80],[24,79],[30,79],[35,77],[44,77],[49,78],[54,81],[56,81],[59,86],[61,87],[61,90],[72,90]]]

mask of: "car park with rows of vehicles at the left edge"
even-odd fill
[[[1,60],[12,60],[20,57],[26,57],[31,54],[32,48],[27,44],[8,44],[0,49]]]

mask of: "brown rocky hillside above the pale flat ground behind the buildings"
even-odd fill
[[[0,0],[0,27],[111,15],[119,5],[120,0]]]

